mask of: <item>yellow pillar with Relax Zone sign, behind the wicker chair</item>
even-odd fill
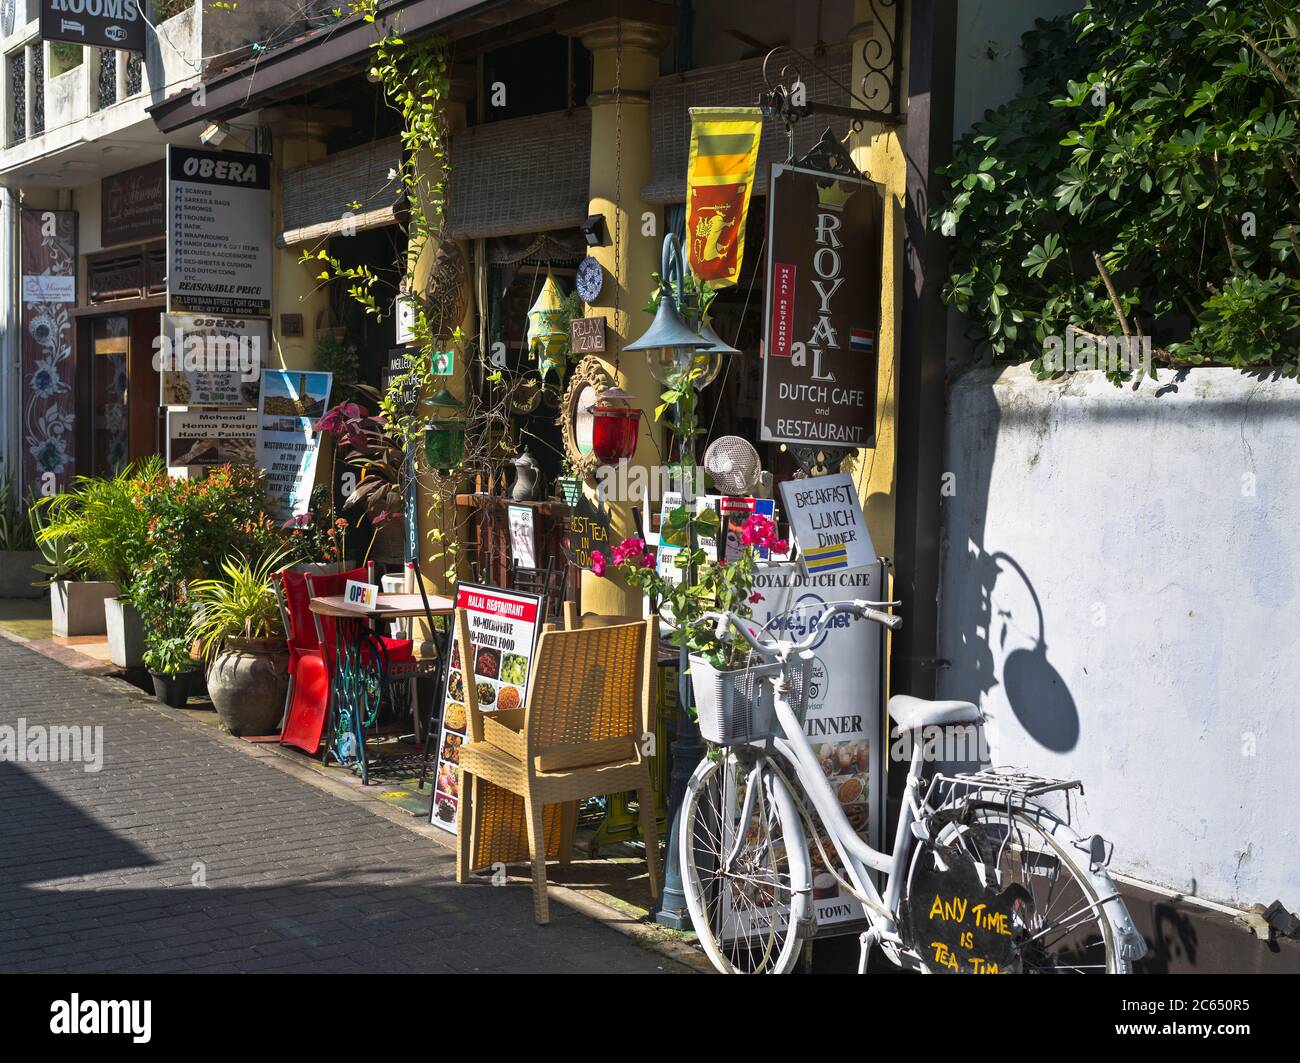
[[[611,3],[610,9],[618,9]],[[645,16],[646,9],[638,9]],[[668,10],[667,17],[672,17]],[[660,461],[663,430],[654,420],[662,386],[650,374],[645,356],[619,357],[623,344],[641,337],[651,317],[642,313],[659,269],[663,212],[647,204],[641,190],[650,182],[650,86],[659,77],[659,55],[672,39],[671,25],[641,18],[611,17],[568,30],[593,53],[592,96],[592,214],[604,214],[608,243],[592,248],[606,269],[599,301],[589,311],[608,320],[606,368],[645,411],[636,455],[629,464],[653,470]],[[615,84],[619,87],[615,95]],[[620,121],[621,118],[621,121]],[[620,135],[621,127],[621,135]],[[653,234],[644,235],[646,216]],[[618,299],[615,300],[615,294]],[[618,301],[618,311],[615,311]],[[588,494],[592,489],[588,487]],[[636,532],[632,506],[611,502],[612,543]],[[640,615],[641,591],[582,576],[582,608],[603,615]]]

